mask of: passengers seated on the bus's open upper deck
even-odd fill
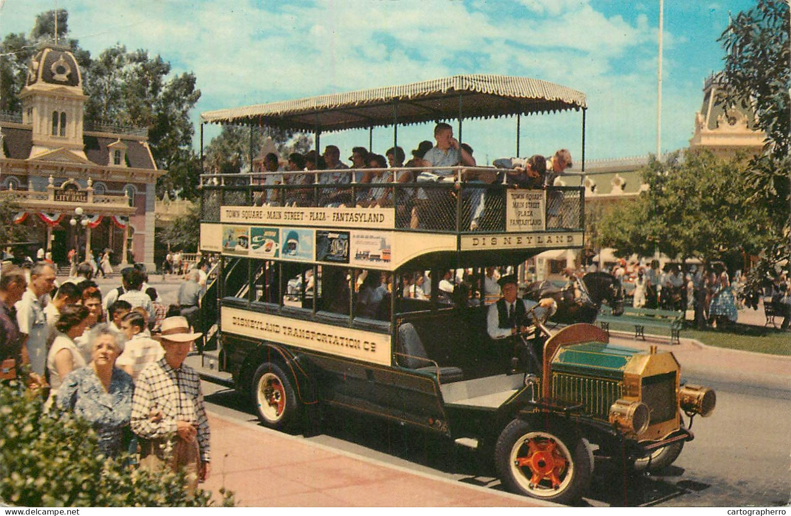
[[[263,188],[263,192],[256,193],[253,202],[257,206],[274,207],[393,207],[393,189],[377,184],[423,184],[426,188],[415,186],[399,192],[401,200],[396,216],[403,221],[403,225],[408,222],[412,228],[426,228],[436,218],[436,215],[432,216],[428,211],[442,207],[447,201],[445,197],[448,196],[447,190],[428,188],[428,184],[456,179],[456,171],[440,167],[476,166],[472,147],[454,138],[453,129],[448,123],[437,123],[433,136],[435,142],[420,142],[412,150],[412,157],[407,162],[404,162],[406,154],[399,146],[391,147],[384,155],[356,146],[348,158],[351,165],[340,161],[340,150],[334,145],[326,146],[324,154],[318,154],[316,150],[307,154],[292,153],[283,165],[277,154],[267,154],[263,159],[267,174],[256,177],[253,184],[265,187],[280,184],[290,186]],[[553,185],[554,180],[572,166],[572,161],[570,152],[561,149],[552,157],[536,154],[528,158],[501,158],[494,160],[494,166],[501,170],[469,170],[462,179],[471,184],[498,181],[514,188],[546,188]],[[390,172],[388,169],[399,170]],[[324,170],[331,172],[316,174]],[[344,172],[346,170],[349,172]],[[294,185],[307,187],[311,184],[327,185],[327,188],[318,190],[318,199],[314,199],[312,188],[294,188]],[[485,190],[467,188],[463,196],[470,204],[470,214],[464,223],[470,230],[476,230],[484,214]],[[548,213],[551,216],[558,215],[561,200],[562,195],[554,195],[549,199]]]

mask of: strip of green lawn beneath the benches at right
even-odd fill
[[[632,324],[611,323],[610,329],[631,332],[634,335]],[[645,328],[645,332],[661,334],[660,328]],[[669,335],[669,330],[667,333]],[[791,355],[791,332],[750,324],[733,324],[723,329],[698,330],[691,327],[691,321],[687,321],[681,330],[681,338],[699,340],[706,346],[729,347],[770,355]]]

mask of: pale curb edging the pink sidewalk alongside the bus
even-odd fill
[[[346,450],[338,450],[337,448],[333,448],[332,446],[327,446],[327,445],[321,444],[320,442],[311,442],[311,441],[306,440],[305,438],[298,437],[297,435],[285,434],[285,433],[280,432],[280,431],[272,430],[271,428],[262,427],[262,426],[260,426],[258,424],[251,423],[249,421],[240,421],[239,419],[233,419],[232,417],[228,417],[227,415],[220,415],[217,412],[214,412],[214,411],[211,411],[211,410],[206,410],[206,412],[208,414],[210,414],[212,417],[216,417],[217,419],[222,419],[226,423],[232,423],[232,424],[239,425],[241,427],[247,427],[247,428],[249,428],[251,430],[260,431],[260,432],[263,432],[265,434],[271,434],[271,435],[276,436],[278,438],[289,439],[291,441],[299,442],[301,444],[304,444],[305,446],[313,446],[313,447],[318,448],[320,450],[324,450],[324,451],[327,451],[327,452],[330,452],[330,453],[337,453],[339,455],[343,455],[344,457],[349,457],[349,458],[352,458],[352,459],[355,459],[355,460],[358,460],[358,461],[367,462],[367,463],[369,463],[371,465],[375,465],[375,466],[378,466],[378,467],[381,467],[381,468],[393,469],[393,470],[398,471],[398,472],[403,472],[403,473],[407,473],[407,474],[414,475],[414,476],[421,476],[422,478],[426,478],[426,479],[429,479],[429,480],[437,480],[438,482],[442,482],[443,484],[452,485],[452,486],[454,486],[456,488],[471,489],[473,491],[479,491],[481,493],[485,493],[486,495],[501,496],[501,497],[503,497],[505,499],[511,499],[511,500],[520,501],[520,502],[527,501],[529,503],[535,503],[536,507],[566,507],[566,506],[561,505],[559,503],[546,502],[544,500],[533,499],[533,498],[530,498],[528,496],[514,495],[513,493],[509,493],[507,491],[497,491],[497,490],[494,490],[494,489],[491,489],[491,488],[483,488],[481,486],[476,486],[476,485],[472,485],[472,484],[465,484],[464,482],[459,482],[459,481],[456,481],[456,480],[449,480],[449,479],[444,478],[442,476],[432,475],[431,473],[422,472],[422,471],[415,471],[414,469],[404,468],[403,466],[399,466],[399,465],[395,465],[395,464],[388,464],[387,462],[380,461],[378,459],[374,459],[374,458],[371,458],[371,457],[365,457],[363,455],[359,455],[358,453],[354,453],[354,452],[350,452],[350,451],[346,451]]]

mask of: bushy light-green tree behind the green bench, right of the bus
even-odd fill
[[[653,160],[642,169],[648,190],[604,214],[600,241],[619,254],[721,260],[734,252],[755,253],[766,245],[771,224],[766,207],[745,209],[751,196],[744,157],[723,159],[710,151]]]

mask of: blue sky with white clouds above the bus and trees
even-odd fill
[[[123,44],[191,70],[199,112],[454,74],[539,78],[587,94],[586,157],[656,150],[659,1],[642,0],[0,0],[0,35],[28,32],[55,5],[70,37],[93,55]],[[748,0],[665,0],[663,152],[687,146],[704,79],[721,70],[717,37]],[[567,147],[578,159],[581,116],[522,117],[521,154]],[[207,128],[206,135],[217,133]],[[196,131],[196,135],[198,132]],[[399,128],[407,150],[430,125]],[[464,140],[479,163],[515,151],[516,120],[468,121]],[[343,152],[367,131],[322,135]],[[392,146],[374,131],[373,150]],[[342,156],[345,157],[345,156]]]

